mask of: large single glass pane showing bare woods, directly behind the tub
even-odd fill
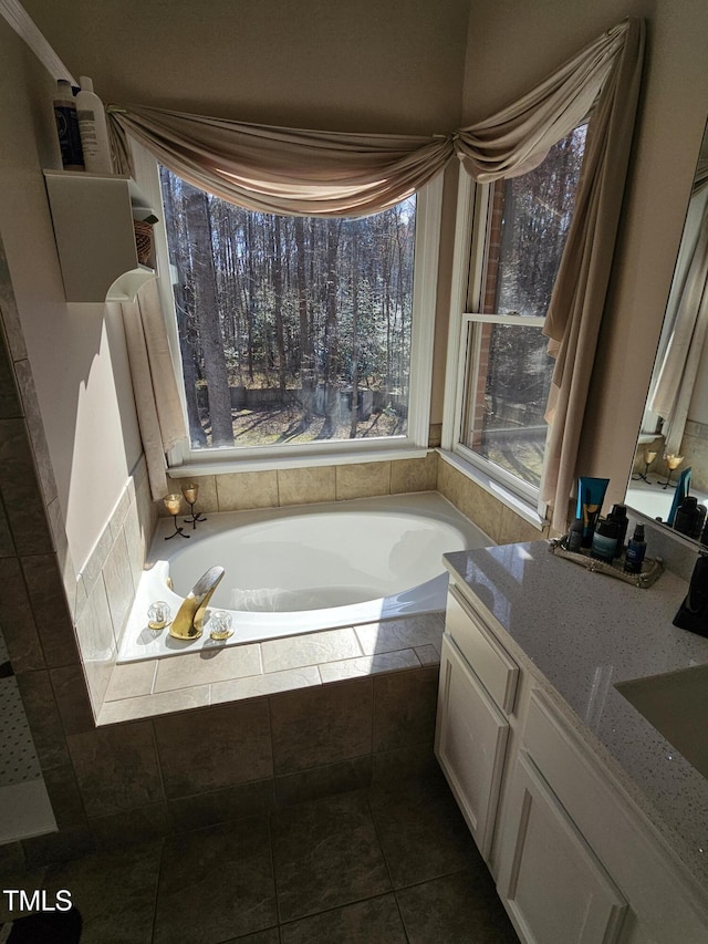
[[[279,217],[160,175],[192,448],[404,436],[415,196]]]

